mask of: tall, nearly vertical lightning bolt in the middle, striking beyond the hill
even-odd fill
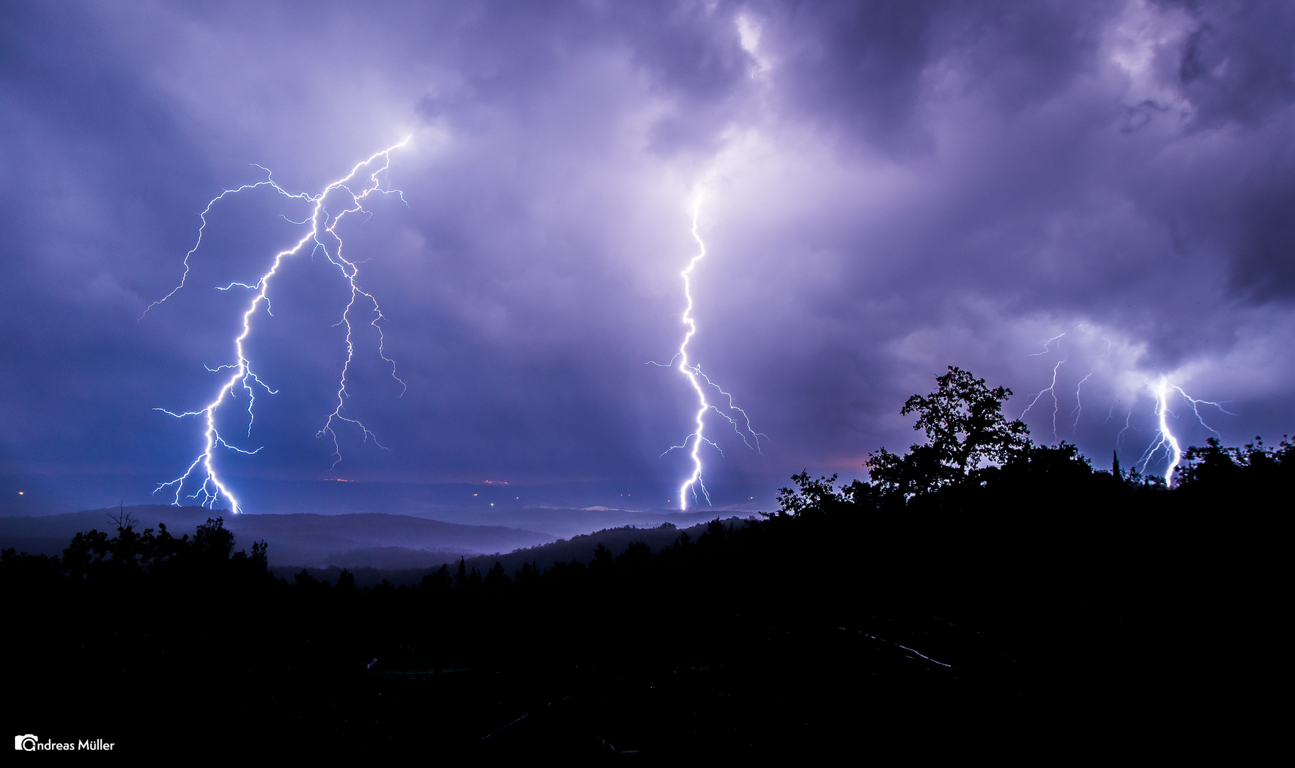
[[[702,492],[702,497],[706,499],[706,504],[707,505],[711,504],[711,493],[710,491],[706,490],[706,483],[702,482],[702,456],[701,456],[702,443],[706,443],[712,448],[715,448],[716,451],[719,451],[720,456],[724,456],[724,451],[720,449],[720,447],[716,446],[714,440],[706,438],[704,435],[706,413],[708,411],[714,411],[715,413],[726,418],[728,422],[733,426],[733,431],[736,431],[738,436],[742,438],[742,442],[746,444],[747,448],[754,448],[755,451],[759,452],[760,438],[768,438],[768,435],[758,433],[754,429],[751,429],[751,417],[747,416],[746,411],[738,408],[734,404],[733,395],[724,391],[724,389],[721,389],[719,385],[712,382],[706,374],[703,374],[701,364],[695,365],[690,364],[688,359],[688,343],[693,341],[694,335],[697,335],[697,319],[693,317],[693,306],[694,306],[693,269],[697,268],[698,262],[706,258],[706,241],[702,240],[701,233],[697,231],[698,221],[701,219],[701,212],[702,212],[702,196],[698,194],[693,203],[693,240],[697,241],[697,255],[694,255],[688,262],[688,265],[684,267],[684,271],[679,273],[680,277],[684,278],[685,307],[682,315],[682,324],[688,328],[688,330],[684,333],[684,341],[679,344],[679,352],[676,352],[675,356],[671,357],[670,363],[667,364],[651,363],[651,361],[648,363],[649,365],[657,365],[660,368],[673,368],[675,363],[679,361],[679,372],[688,379],[689,386],[697,394],[697,414],[694,417],[697,429],[694,429],[692,434],[684,438],[682,443],[680,443],[679,446],[671,446],[662,453],[662,456],[664,456],[666,453],[670,453],[671,451],[676,449],[689,451],[689,444],[692,444],[689,456],[693,460],[693,474],[689,475],[688,479],[685,479],[684,483],[679,487],[679,508],[681,510],[688,509],[689,492],[692,492],[694,501],[698,500],[697,497],[698,490]],[[741,424],[728,413],[724,413],[717,407],[712,405],[710,400],[707,400],[706,392],[711,387],[714,387],[719,394],[728,398],[728,409],[736,411],[738,414],[741,414],[742,418]],[[751,439],[755,440],[755,446],[751,446],[751,442],[747,439],[747,435],[750,435]]]

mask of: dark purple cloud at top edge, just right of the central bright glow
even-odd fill
[[[856,140],[930,149],[919,113],[935,65],[988,85],[997,109],[1046,98],[1087,65],[1112,4],[768,3],[786,106]]]

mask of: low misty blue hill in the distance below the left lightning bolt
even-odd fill
[[[61,554],[80,531],[114,531],[110,514],[95,509],[45,517],[0,518],[0,549],[10,547],[32,554]],[[176,536],[193,534],[208,517],[220,513],[199,506],[127,506],[140,528],[164,523]],[[225,513],[236,549],[253,541],[269,545],[272,566],[376,566],[408,567],[416,562],[439,565],[462,556],[512,552],[553,540],[553,536],[502,526],[469,526],[398,514],[240,514]],[[386,550],[383,557],[378,554]],[[348,554],[354,553],[354,554]],[[418,559],[422,558],[422,559]]]

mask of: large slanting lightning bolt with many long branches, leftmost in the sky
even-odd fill
[[[373,439],[374,444],[385,449],[385,447],[377,442],[376,436],[369,430],[369,427],[364,426],[357,420],[342,416],[342,408],[344,400],[346,398],[350,396],[348,392],[346,391],[346,376],[350,370],[351,361],[355,359],[355,344],[351,338],[352,334],[351,312],[355,308],[356,302],[363,300],[372,304],[373,316],[369,321],[369,325],[372,325],[378,332],[378,356],[382,357],[382,360],[391,367],[392,378],[400,382],[401,386],[405,386],[405,382],[396,376],[395,361],[386,356],[386,351],[383,348],[385,337],[382,334],[382,326],[378,325],[378,321],[383,320],[385,317],[382,315],[381,307],[378,306],[378,300],[373,297],[373,294],[365,291],[363,288],[360,288],[359,282],[356,282],[356,277],[359,276],[360,272],[359,265],[357,263],[351,262],[342,255],[342,238],[337,233],[337,227],[342,221],[342,219],[344,219],[350,214],[366,212],[364,209],[364,201],[368,199],[369,196],[374,193],[396,194],[400,197],[401,201],[404,201],[404,196],[400,193],[400,190],[383,189],[378,176],[391,166],[391,153],[408,144],[409,139],[411,137],[405,137],[404,141],[394,144],[383,150],[376,152],[368,158],[360,161],[359,163],[355,164],[355,167],[351,168],[350,174],[338,179],[337,181],[330,183],[322,189],[322,192],[315,196],[307,193],[294,194],[285,190],[282,186],[278,185],[278,183],[275,181],[273,175],[268,168],[265,168],[264,166],[256,166],[263,171],[265,171],[264,181],[258,181],[255,184],[243,184],[242,186],[238,186],[236,189],[227,189],[220,194],[218,194],[216,197],[214,197],[210,202],[207,202],[207,206],[199,214],[202,225],[198,227],[198,240],[194,243],[194,246],[189,249],[189,253],[184,255],[184,273],[180,277],[180,284],[174,289],[171,289],[168,294],[149,304],[144,310],[145,316],[148,315],[149,310],[166,302],[167,299],[174,297],[176,291],[179,291],[185,286],[185,281],[189,277],[189,259],[202,246],[202,236],[207,228],[207,214],[211,211],[211,207],[214,205],[216,205],[225,197],[237,194],[247,189],[269,186],[276,193],[282,194],[284,197],[300,199],[303,202],[311,203],[312,205],[311,215],[302,221],[293,221],[294,224],[300,224],[300,225],[310,224],[310,232],[307,232],[291,247],[281,250],[277,254],[275,254],[269,269],[267,269],[256,280],[256,282],[253,284],[231,282],[224,288],[218,286],[218,290],[231,290],[238,286],[254,291],[253,298],[247,304],[247,308],[242,313],[242,332],[233,339],[234,361],[228,365],[220,365],[216,368],[205,367],[207,368],[207,370],[212,373],[221,370],[231,370],[232,373],[229,374],[229,378],[227,378],[221,383],[220,389],[216,391],[215,399],[203,405],[202,408],[199,408],[198,411],[185,411],[176,413],[172,411],[167,411],[164,408],[155,408],[155,411],[161,411],[162,413],[174,416],[176,418],[185,418],[189,416],[202,417],[202,421],[205,424],[203,429],[205,444],[198,457],[194,458],[192,464],[189,464],[189,466],[184,470],[184,473],[180,477],[166,483],[159,483],[158,487],[153,490],[154,493],[157,493],[162,488],[174,487],[175,499],[172,504],[179,505],[180,496],[185,488],[185,483],[189,482],[189,479],[194,474],[197,474],[201,477],[202,482],[198,484],[197,490],[193,493],[189,493],[186,496],[188,499],[198,499],[199,500],[198,503],[202,506],[215,509],[216,503],[220,500],[221,496],[224,496],[224,499],[229,501],[229,506],[234,514],[242,512],[242,505],[238,503],[237,496],[234,496],[234,493],[229,490],[225,482],[221,480],[220,475],[216,473],[216,468],[214,465],[215,452],[216,448],[224,447],[231,451],[250,456],[259,452],[260,448],[249,451],[225,442],[225,439],[220,435],[220,431],[216,427],[216,412],[225,403],[227,398],[229,400],[233,400],[234,398],[237,398],[237,391],[240,389],[243,390],[247,394],[247,435],[250,436],[251,424],[254,420],[254,407],[256,401],[256,387],[260,387],[269,394],[277,392],[277,390],[269,389],[269,386],[265,385],[253,370],[251,360],[247,357],[243,344],[251,335],[251,320],[253,316],[256,313],[256,311],[260,308],[260,306],[264,304],[265,312],[271,313],[269,285],[275,275],[277,275],[280,264],[282,264],[285,259],[298,255],[300,253],[310,253],[312,255],[316,251],[322,253],[328,258],[329,263],[332,263],[342,272],[342,276],[347,280],[347,282],[351,286],[351,299],[350,302],[347,302],[346,308],[342,311],[342,319],[338,320],[338,322],[335,324],[346,326],[346,363],[342,365],[342,374],[338,381],[337,407],[333,409],[333,413],[328,416],[328,418],[324,422],[324,426],[319,430],[319,433],[316,433],[316,436],[321,438],[324,435],[329,435],[333,439],[333,456],[335,457],[335,461],[333,462],[334,468],[342,460],[341,449],[338,448],[338,442],[337,442],[337,433],[334,431],[334,425],[337,422],[347,422],[356,425],[361,430],[365,442]],[[361,174],[361,168],[373,166],[379,159],[381,163],[378,163],[377,168],[374,168],[372,172],[366,175]],[[341,211],[330,212],[329,209],[326,207],[328,198],[332,193],[339,193],[342,196],[342,199],[346,201]],[[140,319],[142,320],[144,316],[141,316]],[[401,390],[401,395],[403,394],[404,390]]]

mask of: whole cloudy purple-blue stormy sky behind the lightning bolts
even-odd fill
[[[695,405],[645,363],[684,332],[698,193],[690,356],[768,435],[755,453],[708,420],[716,504],[859,477],[917,438],[899,408],[945,365],[1015,390],[1013,417],[1055,370],[1032,435],[1099,466],[1154,439],[1162,377],[1226,401],[1200,411],[1225,443],[1276,442],[1292,40],[1281,3],[6,3],[3,487],[146,497],[181,473],[199,425],[153,409],[211,399],[247,298],[215,286],[255,281],[308,207],[218,203],[186,286],[140,320],[198,211],[264,179],[251,163],[315,193],[405,136],[385,180],[407,203],[342,225],[408,383],[357,332],[344,413],[388,451],[339,429],[330,471],[315,436],[347,288],[303,255],[253,321],[278,394],[237,440],[256,456],[218,453],[233,487],[596,480],[677,504],[688,458],[659,455]],[[1171,409],[1184,444],[1210,436]]]

